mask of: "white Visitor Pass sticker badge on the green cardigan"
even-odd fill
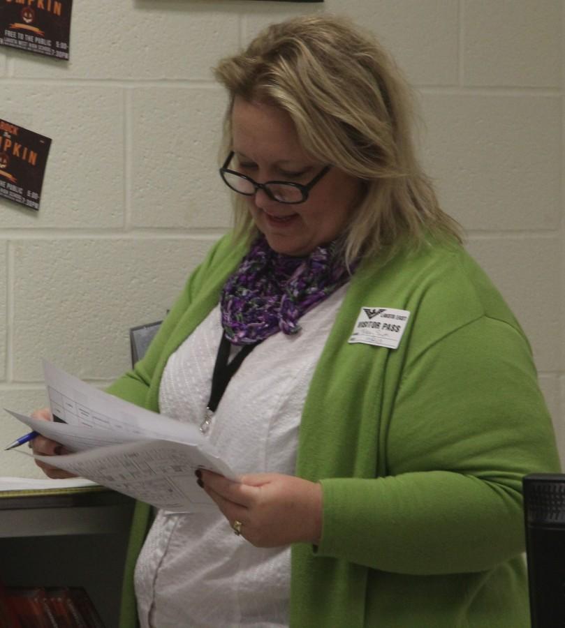
[[[348,342],[396,349],[410,313],[392,308],[361,308]]]

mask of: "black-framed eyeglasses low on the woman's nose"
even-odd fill
[[[293,183],[293,181],[265,181],[264,184],[258,184],[245,174],[229,170],[228,165],[232,158],[233,151],[220,168],[220,176],[228,188],[244,196],[253,196],[257,190],[263,190],[271,200],[286,204],[298,204],[307,200],[310,190],[331,168],[330,165],[325,166],[314,179],[305,185]]]

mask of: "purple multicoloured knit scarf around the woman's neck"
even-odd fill
[[[346,281],[335,243],[307,257],[276,253],[265,237],[254,241],[221,294],[221,324],[234,345],[263,341],[277,331],[296,334],[298,319]]]

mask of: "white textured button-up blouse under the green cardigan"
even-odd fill
[[[299,334],[267,338],[233,376],[207,438],[237,474],[293,474],[302,406],[345,292],[302,316]],[[218,306],[170,356],[162,414],[200,425],[221,333]],[[290,546],[256,548],[237,537],[219,510],[159,511],[135,568],[141,626],[286,627],[290,558]]]

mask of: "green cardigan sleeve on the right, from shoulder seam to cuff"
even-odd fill
[[[402,574],[489,569],[524,551],[521,481],[559,459],[529,346],[480,317],[406,367],[376,479],[323,479],[317,555]]]

